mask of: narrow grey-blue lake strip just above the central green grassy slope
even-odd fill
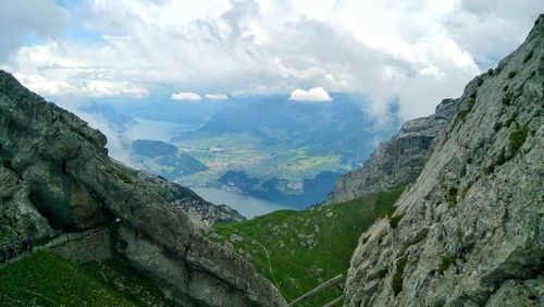
[[[287,205],[274,204],[271,201],[251,197],[247,194],[225,189],[210,187],[195,187],[191,189],[208,201],[217,205],[225,204],[238,210],[242,216],[248,219],[257,216],[263,216],[280,209],[294,209],[293,207],[289,207]]]

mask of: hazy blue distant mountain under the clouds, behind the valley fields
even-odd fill
[[[345,163],[366,158],[370,142],[386,135],[387,130],[375,127],[367,119],[361,111],[364,99],[343,94],[334,98],[326,103],[295,102],[283,96],[239,102],[220,110],[202,127],[176,139],[249,133],[261,146],[306,148],[311,156],[338,155]]]

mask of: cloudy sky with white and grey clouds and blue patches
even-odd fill
[[[49,99],[288,94],[404,120],[495,67],[542,0],[3,0],[0,69]]]

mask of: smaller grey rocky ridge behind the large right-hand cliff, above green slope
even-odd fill
[[[444,99],[435,113],[406,122],[390,140],[382,143],[364,164],[342,175],[326,202],[342,202],[415,181],[425,164],[433,139],[454,116],[458,101]]]

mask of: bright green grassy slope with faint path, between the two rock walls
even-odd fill
[[[280,210],[245,222],[219,224],[214,229],[219,235],[210,237],[232,244],[290,302],[339,273],[346,277],[359,236],[392,211],[401,192],[399,187],[346,202],[302,211]],[[306,305],[320,306],[342,293],[333,287]]]

